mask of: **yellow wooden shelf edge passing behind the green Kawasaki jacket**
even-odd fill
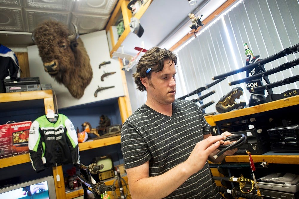
[[[79,151],[85,151],[88,149],[94,149],[102,146],[108,146],[112,144],[118,144],[120,143],[120,135],[113,136],[109,138],[102,138],[94,141],[88,141],[79,143]],[[22,155],[16,155],[8,158],[2,158],[0,159],[0,168],[7,167],[7,166],[13,166],[16,164],[22,164],[30,162],[29,154],[22,154]]]

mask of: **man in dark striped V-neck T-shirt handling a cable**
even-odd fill
[[[123,124],[121,150],[132,198],[221,198],[208,159],[230,136],[211,136],[202,110],[176,100],[175,53],[153,47],[139,60],[135,84],[147,101]],[[234,151],[226,151],[232,155]]]

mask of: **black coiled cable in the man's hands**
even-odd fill
[[[225,140],[223,141],[235,141],[232,144],[227,144],[227,145],[220,145],[218,147],[218,150],[220,150],[217,154],[215,154],[213,157],[216,159],[219,157],[219,155],[222,155],[225,151],[227,150],[231,150],[231,149],[235,149],[238,148],[239,146],[242,146],[247,140],[246,135],[244,134],[234,134],[231,136],[228,136]]]

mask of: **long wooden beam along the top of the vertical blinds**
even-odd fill
[[[215,10],[212,14],[210,14],[205,20],[202,21],[203,24],[208,24],[211,21],[213,21],[214,18],[216,18],[219,14],[221,14],[226,8],[231,6],[237,0],[228,0],[225,1],[217,10]],[[202,27],[200,26],[199,28],[196,29],[196,31],[200,31]],[[174,44],[172,47],[170,47],[169,50],[173,51],[177,49],[179,46],[184,44],[190,37],[193,36],[193,33],[187,33],[183,38],[181,38],[176,44]]]

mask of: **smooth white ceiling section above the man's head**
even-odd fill
[[[169,49],[192,30],[188,13],[203,15],[203,21],[225,1],[197,0],[196,5],[190,6],[187,0],[154,0],[140,19],[143,35],[139,38],[130,33],[122,43],[124,53],[138,53],[134,47],[141,47],[142,41],[147,50],[154,46]],[[121,49],[118,51],[121,52]]]

